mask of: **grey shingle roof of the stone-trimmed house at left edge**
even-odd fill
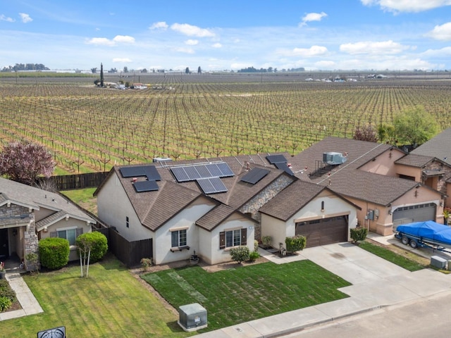
[[[84,213],[78,206],[65,199],[61,194],[47,192],[46,190],[30,187],[19,182],[6,180],[0,177],[0,193],[2,200],[13,204],[39,210],[40,207],[49,210],[64,211],[70,217],[78,218],[89,223],[96,221]]]

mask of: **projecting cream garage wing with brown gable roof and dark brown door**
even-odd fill
[[[261,232],[275,247],[298,234],[307,247],[347,242],[359,209],[328,187],[299,180],[260,209]]]

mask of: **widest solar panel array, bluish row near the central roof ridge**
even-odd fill
[[[234,175],[225,162],[173,167],[171,172],[177,182],[189,182],[210,177],[232,177]]]

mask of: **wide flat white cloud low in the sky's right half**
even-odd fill
[[[347,54],[399,54],[407,49],[411,49],[411,47],[393,42],[392,40],[381,42],[362,41],[354,44],[340,45],[340,51]]]

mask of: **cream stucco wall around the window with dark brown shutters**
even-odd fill
[[[255,223],[240,215],[232,215],[211,232],[199,228],[199,257],[207,264],[231,261],[230,249],[219,249],[219,233],[233,229],[247,229],[247,247],[254,251]],[[197,252],[197,251],[196,251]]]

